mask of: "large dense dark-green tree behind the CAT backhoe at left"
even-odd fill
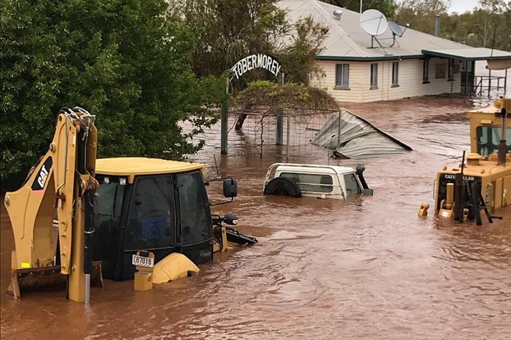
[[[97,116],[101,157],[202,147],[190,139],[215,121],[223,82],[195,77],[197,37],[166,1],[0,1],[2,180],[45,153],[62,106]]]

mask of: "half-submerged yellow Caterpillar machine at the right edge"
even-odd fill
[[[511,204],[511,99],[495,99],[493,106],[467,116],[470,153],[463,152],[461,165],[436,173],[435,214],[481,225],[481,212],[492,223],[501,218],[493,214]],[[426,216],[428,207],[421,204],[419,216]]]

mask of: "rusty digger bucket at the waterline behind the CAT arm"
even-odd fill
[[[28,292],[42,287],[49,290],[63,289],[67,285],[67,280],[68,275],[60,274],[60,265],[16,269],[12,271],[7,295],[20,299],[21,292]],[[101,261],[92,262],[90,285],[92,287],[103,287]]]

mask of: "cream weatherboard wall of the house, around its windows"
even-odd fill
[[[436,64],[445,64],[447,59],[429,60],[429,83],[422,82],[423,60],[399,60],[399,86],[392,87],[392,62],[384,60],[378,64],[378,88],[370,89],[371,64],[373,62],[341,62],[318,60],[323,69],[323,77],[311,79],[311,85],[326,89],[338,102],[376,102],[406,97],[418,97],[427,94],[460,92],[460,73],[453,75],[454,82],[448,81],[448,75],[436,78]],[[350,64],[350,89],[335,89],[335,65]]]

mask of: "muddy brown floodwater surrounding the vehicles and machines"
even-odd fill
[[[14,246],[1,210],[2,339],[511,339],[511,213],[483,226],[419,219],[434,174],[468,150],[464,99],[348,105],[412,146],[363,160],[372,197],[347,202],[265,197],[267,167],[284,160],[220,157],[219,128],[194,156],[239,181],[238,229],[259,243],[200,266],[200,273],[134,292],[133,281],[92,288],[90,306],[63,291],[4,294]],[[289,159],[327,163],[324,151]],[[330,164],[355,165],[355,160]],[[220,189],[210,187],[211,196]]]

